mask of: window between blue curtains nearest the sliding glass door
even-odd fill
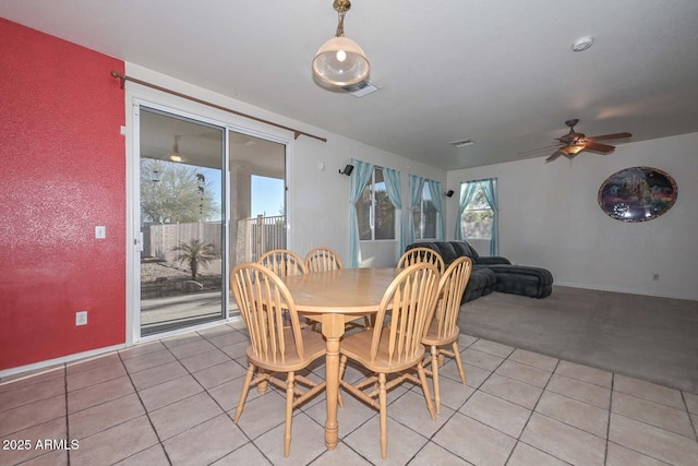
[[[376,167],[357,202],[359,239],[395,239],[395,206],[388,199],[383,169]]]

